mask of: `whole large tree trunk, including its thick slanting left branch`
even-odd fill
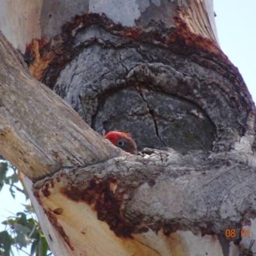
[[[44,83],[1,35],[1,154],[54,255],[251,255],[255,106],[212,1],[1,2]]]

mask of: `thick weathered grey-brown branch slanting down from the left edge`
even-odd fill
[[[56,93],[36,81],[0,34],[1,154],[29,179],[86,166],[120,150],[94,132]]]

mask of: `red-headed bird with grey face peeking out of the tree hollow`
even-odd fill
[[[105,135],[105,138],[125,152],[137,154],[137,146],[135,141],[133,141],[131,138],[131,133],[111,131]]]

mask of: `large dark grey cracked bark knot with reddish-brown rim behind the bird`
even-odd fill
[[[182,35],[163,22],[133,31],[106,15],[77,16],[54,44],[31,44],[31,70],[95,131],[131,132],[139,151],[230,150],[243,135],[250,96],[240,93],[228,75],[237,70],[216,46],[205,48],[209,39],[197,38],[205,44],[196,46]]]

